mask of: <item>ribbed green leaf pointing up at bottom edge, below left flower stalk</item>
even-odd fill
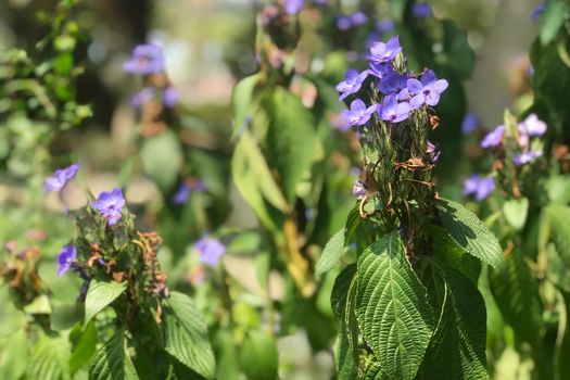
[[[125,346],[125,333],[118,329],[97,350],[89,367],[89,380],[138,380],[137,370]]]

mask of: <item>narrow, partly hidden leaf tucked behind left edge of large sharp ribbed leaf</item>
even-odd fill
[[[334,280],[330,303],[332,312],[339,321],[338,343],[334,350],[334,359],[337,364],[337,375],[340,380],[355,379],[357,373],[357,365],[354,359],[354,351],[352,347],[352,338],[349,337],[349,325],[346,320],[346,309],[354,314],[354,305],[347,303],[351,283],[356,275],[356,265],[350,265],[344,268]],[[356,326],[357,327],[357,326]],[[358,333],[351,334],[356,339]],[[357,347],[356,347],[357,350]]]

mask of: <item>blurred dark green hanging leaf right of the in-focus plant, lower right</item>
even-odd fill
[[[491,291],[507,324],[529,343],[536,343],[542,329],[543,305],[539,286],[520,252],[514,251],[506,265],[493,270]]]

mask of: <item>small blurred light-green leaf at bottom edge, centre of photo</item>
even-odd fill
[[[277,359],[274,338],[256,330],[248,333],[241,351],[241,368],[249,380],[277,379]]]

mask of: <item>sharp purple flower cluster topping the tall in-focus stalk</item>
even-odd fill
[[[401,123],[411,112],[439,103],[440,96],[448,86],[447,80],[438,79],[431,69],[426,69],[420,76],[398,71],[395,60],[401,53],[398,36],[388,42],[373,42],[367,56],[370,67],[362,73],[349,69],[344,80],[337,86],[341,93],[339,99],[344,100],[358,94],[365,80],[371,78],[376,92],[371,98],[382,99],[369,105],[363,99],[354,99],[350,109],[342,113],[351,126],[366,125],[375,113],[381,121]]]

